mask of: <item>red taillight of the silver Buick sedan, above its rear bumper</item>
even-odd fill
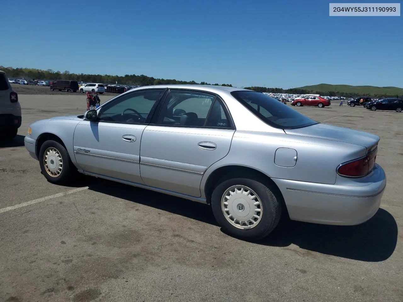
[[[347,177],[362,177],[366,176],[372,171],[375,165],[376,153],[378,149],[375,149],[372,153],[366,157],[343,163],[337,169],[337,173],[341,176]]]

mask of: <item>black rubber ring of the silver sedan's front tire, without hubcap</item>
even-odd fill
[[[57,176],[50,176],[50,173],[45,168],[44,153],[48,148],[56,149],[59,155],[61,155],[62,171]],[[52,184],[68,184],[74,180],[75,174],[77,174],[77,168],[71,162],[66,148],[64,148],[62,144],[52,140],[45,141],[42,144],[39,150],[39,166],[41,167],[42,174],[48,182],[51,182]]]

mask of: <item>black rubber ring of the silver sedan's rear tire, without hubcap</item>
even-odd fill
[[[222,199],[224,198],[225,192],[232,186],[245,186],[250,188],[256,193],[258,199],[260,199],[262,208],[260,213],[262,213],[262,215],[256,226],[249,229],[241,229],[227,220],[224,209],[222,209]],[[243,240],[262,239],[270,234],[280,221],[282,211],[280,198],[282,197],[277,191],[278,190],[272,184],[266,183],[253,174],[243,174],[241,177],[237,177],[236,175],[224,177],[218,182],[218,185],[214,188],[212,193],[211,206],[214,217],[222,230],[231,236]],[[251,209],[249,208],[249,210]]]

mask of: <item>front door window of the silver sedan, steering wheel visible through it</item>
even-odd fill
[[[100,122],[144,124],[150,121],[165,89],[133,91],[102,106],[98,114]]]

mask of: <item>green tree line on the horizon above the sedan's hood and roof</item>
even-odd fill
[[[0,70],[4,70],[10,78],[24,78],[24,79],[38,79],[42,81],[55,81],[55,80],[71,80],[81,82],[105,83],[115,84],[116,82],[121,85],[168,85],[168,84],[199,84],[199,85],[215,85],[215,86],[228,86],[231,84],[210,84],[207,82],[196,83],[195,81],[178,81],[174,79],[156,79],[154,77],[147,77],[144,74],[125,74],[125,76],[109,75],[109,74],[83,74],[71,73],[69,70],[60,72],[52,69],[40,70],[35,68],[12,68],[0,66]]]

